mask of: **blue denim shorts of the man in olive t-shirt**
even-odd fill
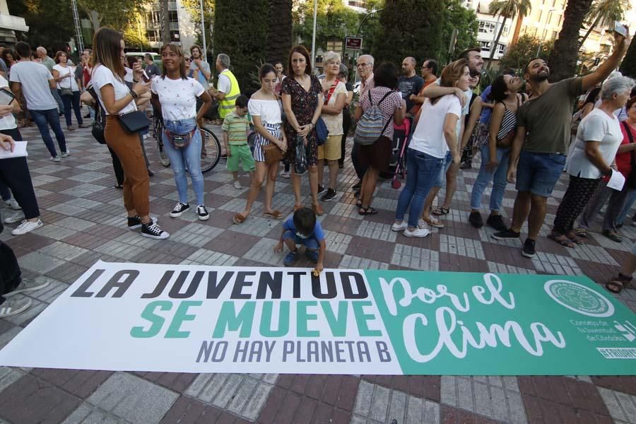
[[[565,155],[522,151],[517,165],[517,191],[550,197],[565,167]]]

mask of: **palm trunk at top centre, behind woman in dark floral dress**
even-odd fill
[[[287,66],[292,44],[292,0],[271,0],[269,6],[269,29],[267,31],[265,61],[269,64],[281,62]]]

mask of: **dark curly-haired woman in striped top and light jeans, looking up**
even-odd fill
[[[508,156],[517,126],[517,109],[524,102],[519,94],[523,86],[521,78],[510,75],[500,75],[493,81],[490,98],[494,100],[493,115],[490,117],[488,142],[476,146],[481,151],[481,168],[471,194],[471,214],[469,222],[475,228],[483,226],[481,196],[488,184],[493,182],[493,192],[490,194],[490,216],[486,223],[497,231],[507,229],[499,210],[506,189],[506,173],[508,172]]]

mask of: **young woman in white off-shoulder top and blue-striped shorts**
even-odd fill
[[[252,205],[256,200],[261,185],[267,177],[265,185],[265,203],[263,208],[263,216],[265,218],[281,219],[283,213],[271,208],[271,199],[273,198],[274,184],[276,183],[276,175],[278,174],[278,161],[271,165],[266,165],[263,146],[274,143],[283,153],[287,151],[287,139],[285,133],[281,130],[281,106],[276,97],[276,69],[270,64],[264,64],[259,69],[259,78],[261,80],[261,89],[252,95],[247,104],[252,122],[254,122],[254,130],[257,136],[254,141],[254,161],[256,162],[256,172],[252,178],[252,185],[249,187],[247,194],[247,204],[245,210],[237,213],[232,221],[235,224],[241,224],[247,219],[252,211]]]

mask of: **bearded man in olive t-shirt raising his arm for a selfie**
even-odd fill
[[[512,225],[508,230],[493,234],[496,240],[517,240],[527,218],[524,257],[536,254],[536,237],[546,218],[548,197],[565,167],[575,100],[616,69],[629,45],[629,39],[615,33],[613,54],[596,71],[558,83],[548,83],[550,69],[545,60],[532,59],[526,66],[524,78],[533,95],[517,112],[517,135],[510,150],[508,181],[513,182],[517,175]]]

